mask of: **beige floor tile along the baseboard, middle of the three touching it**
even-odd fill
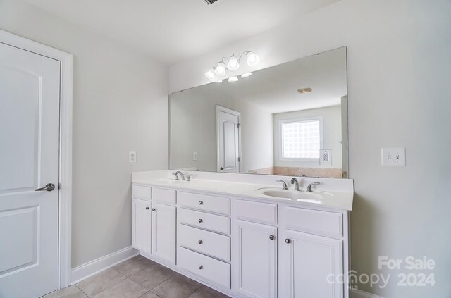
[[[113,268],[106,269],[97,275],[92,276],[92,278],[88,278],[87,280],[83,280],[82,282],[77,284],[77,287],[80,288],[85,294],[89,297],[94,296],[95,294],[99,294],[108,287],[116,285],[116,283],[125,280],[125,275],[119,273]]]

